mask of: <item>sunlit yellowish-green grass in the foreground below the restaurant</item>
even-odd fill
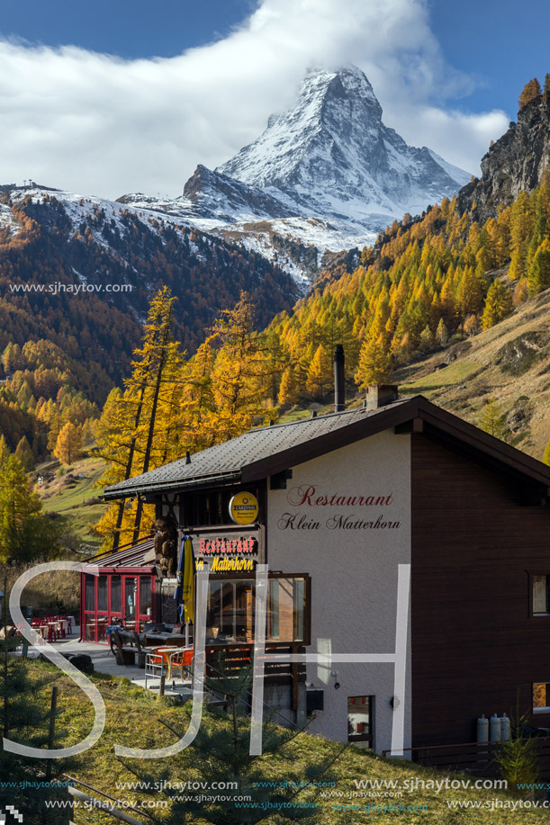
[[[29,676],[36,680],[48,675],[45,671],[55,669],[50,664],[41,662],[29,662],[26,667]],[[201,780],[201,770],[193,747],[175,757],[156,762],[129,760],[124,765],[114,755],[115,744],[134,748],[158,748],[175,742],[176,736],[167,729],[163,721],[173,725],[177,731],[185,731],[189,722],[190,703],[183,707],[170,704],[168,699],[158,699],[131,685],[124,678],[97,674],[92,677],[92,681],[104,697],[106,725],[104,734],[95,747],[77,756],[70,770],[72,776],[76,776],[88,785],[93,785],[105,794],[110,794],[121,801],[132,801],[137,807],[140,807],[142,802],[150,805],[151,801],[156,803],[165,801],[167,796],[162,791],[157,791],[154,796],[150,796],[143,791],[120,785],[120,783],[139,781],[138,776],[132,773],[131,767],[135,767],[141,776],[144,773],[159,776],[160,772],[164,771],[162,778],[167,782]],[[59,677],[56,684],[59,686],[57,729],[63,731],[62,739],[59,737],[59,740],[55,742],[55,747],[59,748],[67,747],[86,737],[92,727],[93,710],[86,695],[66,677]],[[50,689],[39,691],[36,699],[45,706],[49,704]],[[226,723],[214,717],[209,710],[205,710],[203,725],[223,727]],[[227,733],[229,740],[229,725],[227,725]],[[333,825],[333,823],[334,825],[344,825],[344,823],[351,825],[351,823],[372,821],[399,822],[402,825],[428,822],[435,823],[435,825],[451,825],[456,822],[494,822],[499,825],[500,823],[505,823],[505,825],[514,823],[515,825],[517,822],[547,821],[547,809],[516,808],[515,811],[512,810],[511,803],[517,803],[518,798],[504,791],[482,791],[469,788],[446,790],[443,788],[440,793],[437,793],[433,785],[432,787],[422,785],[429,783],[430,780],[432,782],[437,780],[441,783],[441,780],[446,778],[445,773],[421,768],[406,761],[380,758],[356,747],[342,750],[342,746],[336,743],[307,733],[300,734],[292,742],[284,745],[275,756],[262,758],[260,770],[266,781],[293,780],[298,783],[307,776],[308,767],[312,763],[320,761],[329,763],[338,756],[338,753],[339,757],[323,777],[330,783],[327,789],[318,794],[311,794],[310,790],[306,790],[295,797],[296,802],[313,801],[317,804],[317,819],[315,820],[317,822],[328,823],[328,825]],[[231,776],[220,776],[221,780],[230,780],[230,778]],[[451,778],[466,780],[469,777],[453,774]],[[365,779],[397,781],[398,784],[394,790],[389,792],[384,789],[358,790],[356,781]],[[412,780],[415,782],[413,783]],[[416,789],[410,792],[408,785],[409,787],[416,785]],[[398,793],[400,788],[401,795]],[[248,793],[254,800],[254,789]],[[385,793],[392,795],[384,796]],[[347,794],[356,795],[347,796]],[[491,804],[495,798],[508,807],[499,807],[496,810],[472,808],[456,810],[448,804],[467,800]],[[355,810],[350,810],[350,805],[353,805]],[[389,806],[393,807],[390,809]],[[368,808],[371,810],[365,810]],[[197,825],[204,823],[202,818],[192,818],[190,814],[184,814],[183,817],[180,815],[176,820],[171,816],[169,807],[153,810],[146,807],[144,811],[148,811],[154,817],[153,822],[176,823],[177,821],[178,825],[184,825],[186,822],[194,822]],[[290,814],[289,819],[274,814],[265,821],[272,825],[293,821],[292,812]],[[140,816],[135,812],[131,812],[131,815],[144,822],[151,821],[146,816]],[[84,808],[75,811],[74,821],[77,825],[88,825],[88,823],[113,825],[115,822],[107,814],[99,811],[86,811]]]

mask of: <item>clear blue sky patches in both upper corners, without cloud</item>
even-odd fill
[[[77,45],[122,58],[175,57],[226,36],[253,0],[25,0],[3,4],[0,33],[49,46]],[[518,94],[550,71],[547,0],[431,0],[432,30],[448,62],[477,87],[460,104],[515,114]]]

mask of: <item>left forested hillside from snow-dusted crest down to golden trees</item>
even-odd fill
[[[46,190],[0,194],[0,429],[34,461],[60,427],[83,426],[130,370],[160,284],[178,299],[174,332],[194,352],[248,290],[265,326],[295,285],[261,256],[110,202]]]

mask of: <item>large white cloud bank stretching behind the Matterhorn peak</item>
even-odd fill
[[[473,81],[446,65],[423,0],[261,0],[228,37],[176,58],[0,41],[0,180],[174,196],[197,163],[256,138],[308,66],[341,63],[364,69],[387,125],[468,171],[508,124],[446,107]]]

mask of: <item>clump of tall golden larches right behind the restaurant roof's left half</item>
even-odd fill
[[[212,335],[188,360],[172,339],[174,300],[164,288],[151,303],[131,377],[124,390],[111,392],[96,426],[99,454],[108,462],[103,485],[220,444],[275,416],[269,398],[273,353],[255,329],[248,295],[221,313]],[[114,549],[148,535],[153,516],[152,507],[121,501],[95,529],[104,536],[104,549]]]

